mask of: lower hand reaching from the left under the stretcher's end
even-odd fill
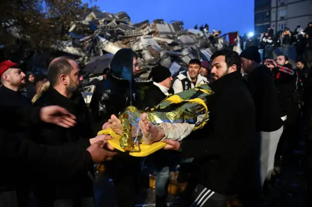
[[[117,155],[117,153],[104,150],[103,147],[105,145],[106,145],[106,148],[110,150],[114,149],[111,145],[109,145],[106,141],[103,141],[103,140],[95,142],[94,144],[90,145],[90,147],[87,148],[87,150],[91,154],[91,157],[94,163],[110,161],[113,159],[115,155]]]

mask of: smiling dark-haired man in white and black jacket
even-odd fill
[[[190,60],[188,70],[181,72],[178,76],[176,76],[173,84],[175,93],[194,88],[198,84],[208,84],[207,78],[199,74],[200,67],[200,60]]]

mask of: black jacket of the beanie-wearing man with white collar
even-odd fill
[[[172,88],[168,91],[169,94],[174,94]],[[159,89],[159,87],[152,84],[145,92],[144,107],[153,107],[163,101],[167,96]]]

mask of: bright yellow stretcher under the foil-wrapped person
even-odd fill
[[[108,143],[115,147],[115,149],[121,151],[121,152],[126,152],[124,149],[120,147],[120,135],[117,135],[111,128],[107,128],[104,130],[101,130],[98,132],[98,135],[111,135],[114,139],[108,140]],[[130,152],[129,155],[131,156],[147,156],[151,155],[152,153],[155,153],[157,150],[160,150],[164,148],[167,144],[162,142],[162,141],[157,141],[154,142],[153,144],[143,144],[140,143],[140,152]]]

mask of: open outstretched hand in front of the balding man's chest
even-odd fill
[[[41,121],[54,123],[65,128],[70,128],[76,124],[76,117],[65,108],[57,105],[42,107],[40,110],[40,119]]]

